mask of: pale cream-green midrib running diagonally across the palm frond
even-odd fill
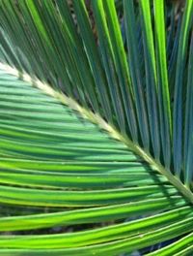
[[[30,82],[30,84],[40,88],[45,94],[58,99],[61,103],[69,106],[71,110],[80,113],[84,118],[95,123],[97,126],[99,126],[99,128],[108,132],[112,138],[124,143],[136,155],[144,159],[150,166],[152,166],[152,168],[159,174],[166,176],[168,181],[178,189],[179,193],[181,193],[185,199],[193,204],[193,193],[179,180],[177,176],[174,176],[169,170],[166,170],[165,167],[161,165],[160,162],[155,160],[150,153],[146,152],[141,146],[133,143],[129,138],[122,135],[115,127],[113,127],[113,125],[108,124],[100,115],[81,107],[75,100],[69,98],[69,96],[62,92],[55,91],[47,83],[42,82],[41,80],[32,79],[26,73],[20,74],[20,72],[7,64],[0,62],[0,69],[16,76],[17,78],[20,78],[21,80]]]

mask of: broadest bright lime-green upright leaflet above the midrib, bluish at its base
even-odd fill
[[[160,116],[160,133],[164,162],[171,165],[172,117],[169,95],[168,71],[166,61],[166,37],[164,23],[164,1],[154,0],[155,46],[157,57],[158,104]]]

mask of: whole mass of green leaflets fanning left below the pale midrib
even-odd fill
[[[0,218],[2,255],[117,255],[193,230],[164,176],[68,107],[3,71],[0,106],[0,203],[15,208]],[[69,226],[80,231],[36,234]],[[191,247],[185,238],[164,250]]]

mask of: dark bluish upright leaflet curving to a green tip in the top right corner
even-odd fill
[[[186,55],[188,48],[188,38],[193,25],[193,1],[186,3],[184,16],[181,22],[181,30],[179,35],[179,51],[176,80],[175,80],[175,96],[174,96],[174,167],[177,176],[180,176],[182,167],[182,85],[184,83],[184,69],[186,63]],[[191,61],[190,64],[191,65]],[[186,169],[188,170],[188,169]],[[187,171],[185,183],[189,185],[190,174]]]

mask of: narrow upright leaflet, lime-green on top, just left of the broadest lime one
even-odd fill
[[[128,2],[128,1],[127,1]],[[158,104],[157,104],[157,78],[155,66],[155,50],[153,45],[152,19],[150,1],[142,0],[139,2],[141,11],[141,24],[144,44],[144,57],[146,65],[146,86],[147,86],[147,105],[152,135],[152,147],[155,158],[160,157],[160,136],[158,134]],[[142,78],[141,78],[142,80]]]

